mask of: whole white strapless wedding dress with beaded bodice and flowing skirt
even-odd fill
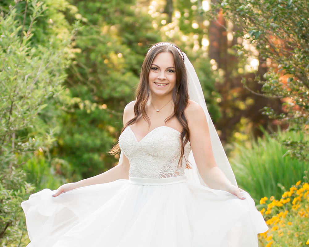
[[[250,247],[268,227],[245,200],[186,179],[180,132],[161,126],[137,141],[119,137],[129,180],[85,186],[57,197],[44,189],[22,203],[34,247]],[[191,151],[185,147],[185,157]]]

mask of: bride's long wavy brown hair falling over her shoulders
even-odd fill
[[[160,44],[160,43],[158,43]],[[171,52],[171,54],[174,57],[174,66],[175,66],[175,72],[176,72],[176,85],[172,92],[172,98],[174,102],[174,113],[169,116],[167,119],[165,119],[165,123],[172,119],[173,117],[176,117],[179,121],[179,123],[182,126],[182,132],[180,134],[180,143],[181,143],[181,155],[178,162],[178,166],[181,165],[182,158],[186,160],[184,157],[184,147],[188,143],[190,132],[188,127],[188,120],[184,114],[184,110],[189,104],[189,93],[188,93],[188,77],[187,77],[187,70],[184,65],[184,61],[180,55],[180,53],[174,48],[173,46],[176,46],[175,44],[171,43],[161,43],[160,45],[154,44],[149,52],[147,53],[142,69],[140,74],[140,79],[138,83],[137,90],[135,92],[136,95],[136,102],[134,105],[134,117],[130,119],[122,128],[121,133],[124,131],[124,129],[136,123],[138,120],[143,117],[148,124],[150,124],[150,119],[146,113],[146,104],[149,100],[149,71],[151,68],[151,65],[155,59],[155,57],[161,53],[161,52]],[[177,46],[176,46],[177,47]],[[178,48],[178,47],[177,47]],[[179,49],[179,48],[178,48]],[[180,50],[180,49],[179,49]],[[116,154],[120,151],[119,144],[117,143],[109,153]],[[186,168],[191,168],[186,161]]]

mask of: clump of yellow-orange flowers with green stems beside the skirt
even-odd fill
[[[266,204],[267,197],[260,200]],[[260,246],[304,246],[309,245],[309,184],[298,181],[280,200],[273,196],[267,208],[260,212],[264,216],[269,230],[260,234]]]

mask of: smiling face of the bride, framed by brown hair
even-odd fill
[[[176,84],[174,57],[171,52],[160,52],[152,62],[149,71],[151,94],[166,96],[172,94]]]

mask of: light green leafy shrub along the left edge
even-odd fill
[[[45,42],[38,44],[40,21],[53,9],[50,2],[6,4],[0,15],[0,244],[23,246],[20,203],[34,188],[25,182],[22,165],[31,162],[33,152],[49,155],[55,141],[57,121],[49,114],[60,108],[71,31],[55,22],[58,31],[44,30]]]

